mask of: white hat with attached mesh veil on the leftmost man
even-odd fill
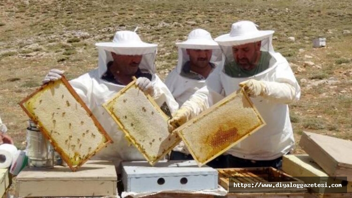
[[[142,72],[155,73],[155,57],[157,44],[146,43],[141,40],[136,32],[117,31],[112,42],[95,44],[98,47],[99,77],[107,71],[107,64],[113,61],[111,52],[120,55],[143,55],[139,68]]]

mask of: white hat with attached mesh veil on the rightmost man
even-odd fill
[[[234,60],[232,55],[232,46],[242,45],[246,43],[253,43],[261,41],[261,51],[267,51],[271,54],[274,53],[272,46],[273,30],[258,30],[258,25],[252,21],[239,21],[231,26],[231,31],[215,38],[215,41],[221,47],[225,55],[225,64],[229,64]],[[270,66],[269,66],[270,67]]]

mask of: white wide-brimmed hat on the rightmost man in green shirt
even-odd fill
[[[274,30],[258,30],[257,25],[251,21],[233,23],[231,32],[215,38],[219,45],[241,45],[256,42],[270,37]]]

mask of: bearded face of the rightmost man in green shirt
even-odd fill
[[[236,63],[245,70],[255,68],[259,56],[260,45],[261,42],[259,41],[232,46],[232,55]]]

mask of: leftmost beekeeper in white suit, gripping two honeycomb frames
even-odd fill
[[[99,123],[114,141],[93,159],[112,160],[116,167],[121,161],[145,160],[134,146],[129,146],[124,133],[102,104],[132,82],[150,94],[159,106],[166,103],[171,112],[178,108],[167,86],[155,74],[157,44],[143,42],[133,31],[117,31],[112,42],[96,43],[98,68],[70,81],[70,84],[92,111]],[[43,83],[61,78],[63,71],[52,69]],[[119,169],[117,169],[120,171]]]

